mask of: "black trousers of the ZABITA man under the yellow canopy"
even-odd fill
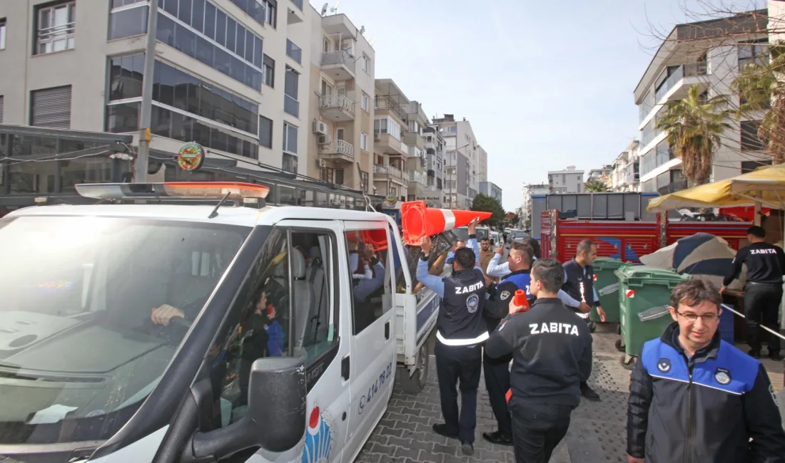
[[[747,317],[747,344],[754,350],[761,350],[761,322],[763,326],[780,332],[777,316],[783,288],[780,284],[761,284],[750,282],[744,288],[744,316]],[[780,338],[766,333],[769,338],[769,353],[780,351]]]

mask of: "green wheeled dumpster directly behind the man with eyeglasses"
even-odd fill
[[[690,275],[651,266],[623,266],[614,273],[619,278],[622,364],[631,369],[644,342],[662,336],[673,322],[668,310],[670,293]]]

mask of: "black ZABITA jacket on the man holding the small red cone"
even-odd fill
[[[513,353],[513,396],[577,406],[580,378],[591,374],[589,327],[557,298],[539,298],[527,312],[508,315],[485,344],[487,356]]]

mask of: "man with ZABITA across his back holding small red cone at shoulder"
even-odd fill
[[[564,269],[554,259],[537,259],[530,273],[537,300],[524,311],[515,298],[485,344],[492,358],[513,355],[509,374],[515,461],[549,461],[580,403],[580,382],[591,373],[592,337],[586,322],[557,297]]]

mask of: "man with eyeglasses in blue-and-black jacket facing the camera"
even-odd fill
[[[627,461],[785,462],[785,430],[760,361],[721,341],[722,298],[677,284],[674,323],[646,342],[630,378]]]

